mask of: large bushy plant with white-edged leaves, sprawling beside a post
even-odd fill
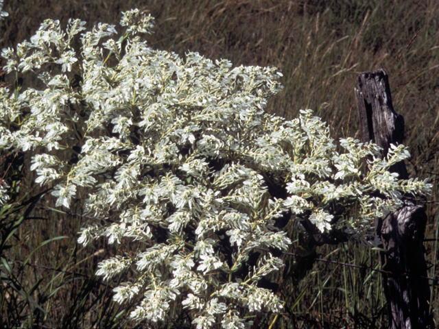
[[[379,160],[376,145],[348,138],[339,154],[311,110],[293,121],[264,112],[281,89],[277,69],[153,50],[137,36],[153,23],[126,12],[126,34],[113,40],[115,27],[99,24],[77,53],[84,22],[64,32],[47,20],[30,42],[2,52],[17,81],[30,71],[45,87],[0,88],[0,148],[33,154],[36,182],[54,186],[57,206],[88,195],[95,222],[80,243],[104,236],[138,246],[97,271],[110,280],[133,270],[114,297],[138,300],[133,319],[158,323],[182,305],[198,329],[244,328],[245,312],[282,309],[257,285],[283,268],[266,250],[292,243],[276,219],[291,212],[320,232],[367,242],[374,217],[399,207],[404,193],[429,193],[426,182],[388,173],[407,158],[403,146]]]

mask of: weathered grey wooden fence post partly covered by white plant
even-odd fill
[[[357,87],[361,142],[376,143],[383,148],[382,156],[387,156],[390,143],[401,144],[404,137],[404,119],[393,110],[388,75],[383,69],[361,73]],[[390,171],[408,178],[404,162]],[[385,250],[380,252],[381,267],[392,273],[383,275],[391,329],[434,328],[423,248],[426,222],[423,207],[410,199],[403,208],[375,221]]]

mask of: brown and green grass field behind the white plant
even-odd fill
[[[301,108],[312,108],[329,123],[334,137],[359,138],[353,93],[357,75],[385,69],[394,108],[405,117],[410,175],[431,177],[434,183],[434,193],[425,204],[429,216],[425,247],[429,276],[439,277],[438,1],[6,0],[3,10],[9,16],[0,24],[0,46],[29,40],[47,18],[59,19],[62,25],[79,18],[91,27],[98,22],[116,24],[121,12],[131,8],[156,18],[156,32],[149,38],[153,48],[182,56],[190,49],[211,59],[227,58],[235,65],[277,66],[285,88],[268,110],[292,119]],[[0,178],[15,184],[16,191],[16,204],[0,213],[3,325],[131,328],[121,321],[127,315],[125,306],[111,300],[117,282],[106,285],[93,275],[99,260],[116,250],[104,241],[95,249],[79,247],[76,233],[88,220],[81,216],[80,204],[65,213],[52,209],[48,197],[32,199],[42,191],[32,180],[21,180],[27,161],[15,154],[1,158]],[[294,227],[289,230],[296,234]],[[328,263],[379,268],[377,252],[351,244],[317,252],[326,262],[316,261],[305,278],[285,285],[285,313],[276,327],[385,326],[380,274]],[[431,310],[439,323],[438,280],[430,282]],[[271,323],[272,318],[261,318],[260,326],[268,328]]]

